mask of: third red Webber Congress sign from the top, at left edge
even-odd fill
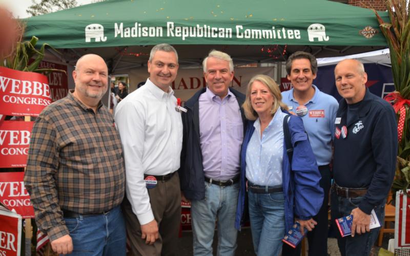
[[[24,172],[0,173],[0,202],[25,219],[34,218],[34,208],[23,178]]]

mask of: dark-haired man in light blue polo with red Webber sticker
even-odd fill
[[[286,61],[286,72],[293,89],[282,92],[283,102],[288,104],[289,111],[303,120],[322,176],[320,186],[324,191],[322,207],[314,217],[318,224],[308,233],[309,255],[327,255],[327,202],[331,182],[329,164],[339,104],[334,97],[320,92],[313,84],[317,61],[312,54],[302,51],[293,53]],[[300,246],[292,249],[284,245],[283,255],[300,255]]]

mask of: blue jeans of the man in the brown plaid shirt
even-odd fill
[[[126,255],[125,223],[119,206],[107,214],[64,220],[73,240],[69,255]]]

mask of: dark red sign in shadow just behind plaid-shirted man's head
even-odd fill
[[[47,75],[53,102],[66,97],[68,94],[67,66],[43,60],[40,61],[38,68],[60,69],[66,71],[66,73],[52,71]]]

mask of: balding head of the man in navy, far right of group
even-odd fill
[[[361,101],[366,93],[367,74],[356,59],[340,61],[335,68],[336,88],[347,104]]]

